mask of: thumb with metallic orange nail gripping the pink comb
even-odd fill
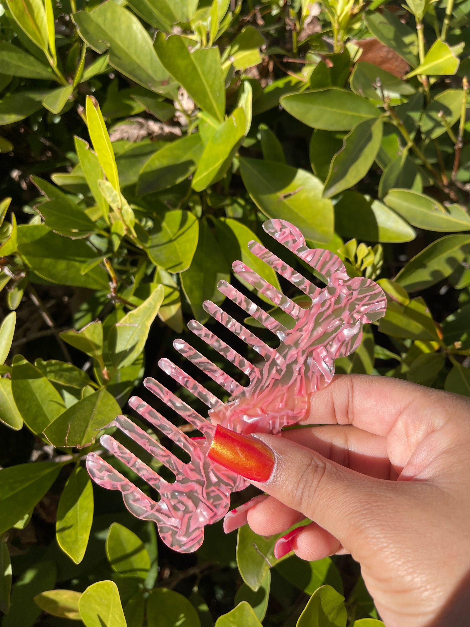
[[[403,498],[409,500],[408,482],[366,477],[265,433],[245,436],[219,425],[207,456],[301,512],[356,553],[371,528],[385,533],[393,528],[392,512],[403,511]]]

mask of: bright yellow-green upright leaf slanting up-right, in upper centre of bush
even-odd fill
[[[204,147],[201,161],[192,178],[192,189],[200,192],[211,183],[220,181],[231,166],[232,158],[241,144],[245,131],[245,112],[243,108],[238,107],[224,124],[216,129]]]

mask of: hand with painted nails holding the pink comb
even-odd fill
[[[241,436],[217,427],[209,456],[264,490],[227,529],[278,540],[278,557],[350,552],[387,627],[470,624],[470,400],[400,379],[340,375],[303,424]]]

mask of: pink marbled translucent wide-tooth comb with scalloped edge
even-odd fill
[[[220,384],[231,394],[231,400],[222,403],[169,359],[159,361],[164,372],[207,405],[213,423],[245,434],[279,433],[284,426],[300,421],[306,413],[308,394],[332,380],[335,359],[347,356],[358,347],[363,324],[382,317],[387,304],[377,283],[362,277],[349,278],[337,255],[321,248],[308,248],[293,224],[274,219],[266,221],[263,228],[325,277],[326,287],[316,287],[263,245],[251,241],[249,250],[310,297],[310,307],[300,307],[244,263],[235,261],[234,272],[289,314],[295,322],[293,328],[282,325],[225,281],[217,285],[219,292],[276,334],[281,341],[279,347],[269,347],[220,307],[206,301],[206,312],[256,350],[263,357],[264,365],[253,366],[196,320],[191,320],[188,328],[244,372],[249,377],[248,386],[241,386],[181,339],[175,340],[175,350]],[[202,433],[200,438],[189,438],[140,398],[133,396],[129,401],[135,411],[188,453],[191,461],[180,461],[130,419],[118,416],[114,424],[167,466],[174,473],[175,482],[165,481],[110,435],[101,438],[102,445],[154,487],[160,500],[149,498],[96,453],[88,454],[88,472],[102,487],[120,490],[133,515],[154,520],[169,547],[175,551],[196,551],[204,540],[204,525],[220,520],[229,508],[231,492],[243,489],[248,482],[207,458],[214,433],[211,422],[154,379],[145,379],[144,384]]]

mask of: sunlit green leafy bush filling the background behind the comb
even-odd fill
[[[175,554],[91,483],[84,459],[135,387],[155,403],[144,373],[194,403],[158,371],[162,356],[224,398],[171,343],[191,317],[211,327],[202,303],[224,302],[219,280],[249,293],[234,260],[301,301],[247,249],[277,250],[266,217],[387,293],[387,314],[337,372],[470,396],[469,11],[458,0],[0,4],[3,627],[382,624],[349,557],[276,561],[276,537],[243,527],[237,540],[220,523],[196,554]]]

